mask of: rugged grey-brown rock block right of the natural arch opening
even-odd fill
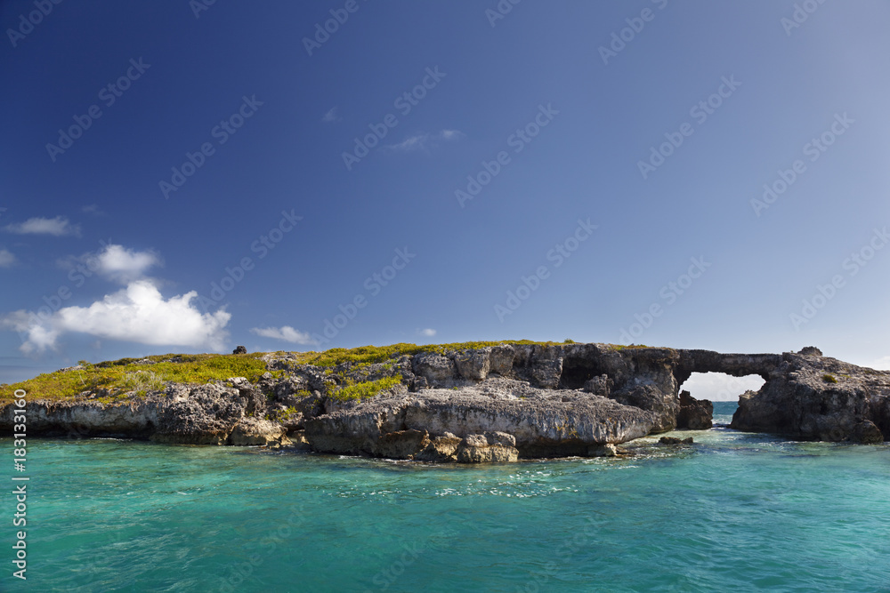
[[[890,434],[890,373],[835,358],[785,353],[763,388],[748,391],[730,427],[806,440]],[[877,432],[868,425],[875,426]]]

